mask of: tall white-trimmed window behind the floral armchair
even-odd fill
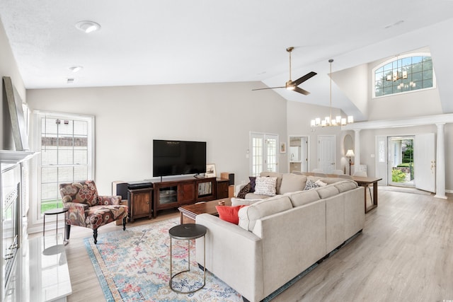
[[[94,117],[36,112],[38,205],[36,218],[63,207],[59,184],[94,177]]]

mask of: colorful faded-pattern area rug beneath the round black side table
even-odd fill
[[[99,233],[84,243],[106,301],[242,301],[241,295],[206,272],[206,285],[193,294],[177,294],[170,279],[168,230],[179,224],[169,219],[110,233]],[[186,240],[173,240],[173,274],[188,267]],[[190,272],[173,279],[173,288],[189,291],[202,284],[203,272],[195,262],[195,240],[190,243]]]

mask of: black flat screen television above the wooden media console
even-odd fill
[[[205,141],[153,140],[154,177],[205,172]]]

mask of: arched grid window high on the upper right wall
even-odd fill
[[[407,54],[386,61],[373,69],[374,98],[435,88],[429,53]]]

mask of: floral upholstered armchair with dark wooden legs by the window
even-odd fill
[[[98,228],[107,223],[122,219],[122,229],[126,229],[127,206],[122,206],[120,196],[99,196],[93,180],[62,183],[59,185],[63,205],[69,209],[66,216],[69,239],[71,226],[84,226],[93,229],[94,243],[98,242]]]

